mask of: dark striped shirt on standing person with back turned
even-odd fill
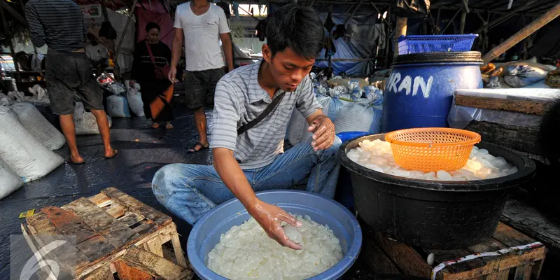
[[[31,42],[38,48],[72,52],[84,48],[82,10],[72,0],[29,0],[25,5]]]

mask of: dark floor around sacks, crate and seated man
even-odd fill
[[[174,130],[163,127],[153,130],[144,118],[113,118],[111,141],[119,151],[116,158],[102,158],[102,142],[98,135],[78,137],[78,148],[86,165],[62,165],[45,178],[27,183],[0,200],[0,279],[9,279],[10,235],[21,233],[18,216],[23,211],[48,205],[60,207],[79,197],[95,195],[104,188],[116,187],[173,217],[153,196],[151,180],[155,172],[174,162],[211,164],[208,150],[186,153],[197,137],[192,114],[176,109],[175,116]],[[63,158],[69,156],[66,146],[56,153]],[[182,243],[186,244],[190,225],[173,219],[183,235]],[[373,279],[373,273],[358,258],[344,279]]]

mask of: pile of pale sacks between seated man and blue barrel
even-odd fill
[[[358,80],[349,80],[347,85],[335,85],[332,88],[316,85],[315,93],[317,101],[323,106],[323,113],[335,124],[336,133],[379,133],[383,92],[377,87],[362,86]],[[286,134],[290,144],[310,141],[313,134],[307,131],[308,127],[304,116],[295,110]]]

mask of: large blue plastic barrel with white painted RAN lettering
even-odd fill
[[[381,132],[448,127],[457,89],[482,88],[480,52],[399,55],[385,85]]]

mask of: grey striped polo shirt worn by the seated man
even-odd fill
[[[313,93],[311,80],[306,76],[294,92],[284,94],[266,118],[251,130],[237,135],[239,127],[257,118],[272,103],[268,92],[258,84],[261,62],[235,69],[216,85],[210,146],[234,151],[241,169],[265,167],[283,153],[283,139],[294,109],[305,118],[322,109]],[[281,92],[278,90],[274,98]]]

